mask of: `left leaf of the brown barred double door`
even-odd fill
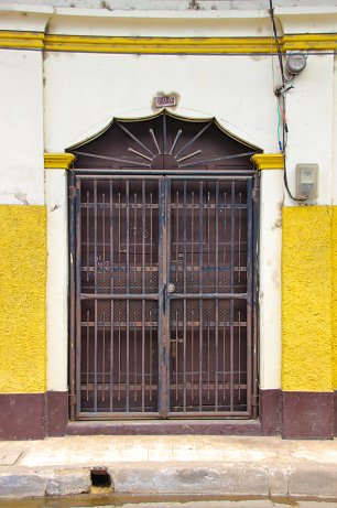
[[[76,188],[77,417],[156,417],[159,181]]]

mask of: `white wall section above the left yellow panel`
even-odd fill
[[[0,50],[0,203],[44,203],[42,53]]]

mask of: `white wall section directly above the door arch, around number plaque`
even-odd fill
[[[160,90],[178,94],[178,115],[215,116],[240,138],[278,150],[269,57],[50,53],[45,82],[50,152],[97,132],[113,116],[153,115]]]

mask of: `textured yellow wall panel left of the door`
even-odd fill
[[[0,392],[46,388],[46,213],[0,205]]]

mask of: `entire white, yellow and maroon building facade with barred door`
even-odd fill
[[[0,2],[0,439],[333,439],[337,2],[135,3]]]

